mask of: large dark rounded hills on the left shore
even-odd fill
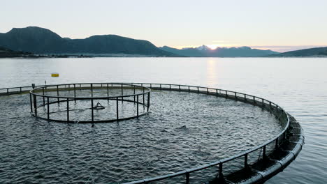
[[[147,40],[117,35],[91,36],[85,39],[61,38],[57,33],[36,26],[14,28],[0,33],[0,46],[34,54],[138,54],[175,56]]]

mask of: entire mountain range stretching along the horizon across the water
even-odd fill
[[[85,39],[61,38],[57,33],[37,26],[13,28],[0,33],[0,52],[3,56],[189,56],[189,57],[247,57],[247,56],[327,56],[327,47],[274,52],[251,47],[217,47],[202,45],[175,49],[156,47],[147,40],[136,40],[117,35],[91,36]],[[31,54],[33,53],[33,54]],[[36,54],[36,55],[35,55]]]

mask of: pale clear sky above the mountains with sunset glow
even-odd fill
[[[1,33],[41,26],[61,37],[117,34],[157,47],[327,46],[327,0],[0,0],[0,6]]]

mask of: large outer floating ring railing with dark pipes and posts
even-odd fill
[[[259,146],[247,151],[240,151],[239,154],[233,155],[230,158],[217,160],[209,164],[202,165],[201,167],[185,169],[182,171],[175,172],[173,174],[166,174],[163,176],[157,176],[154,178],[145,178],[138,181],[132,181],[125,184],[137,184],[137,183],[180,183],[180,180],[184,180],[183,183],[191,183],[192,176],[196,176],[197,171],[208,171],[215,172],[214,178],[208,178],[211,180],[211,183],[262,183],[268,178],[275,176],[279,171],[282,171],[288,164],[290,164],[300,153],[302,146],[304,144],[303,130],[300,127],[300,124],[289,115],[287,112],[279,107],[279,105],[274,102],[270,102],[264,98],[259,98],[254,95],[248,95],[245,93],[238,93],[235,91],[227,91],[224,89],[213,89],[201,86],[189,86],[189,85],[179,85],[179,84],[152,84],[152,83],[122,83],[123,85],[130,86],[139,86],[144,87],[145,89],[152,90],[166,90],[166,91],[182,91],[189,93],[203,93],[207,95],[214,95],[221,98],[228,98],[232,100],[238,100],[241,102],[249,103],[266,109],[268,112],[274,114],[279,123],[281,123],[283,130],[279,132],[278,135],[273,137]],[[122,85],[118,84],[118,85]],[[71,88],[74,84],[69,85],[68,88]],[[84,85],[84,84],[75,84],[75,85]],[[98,85],[107,85],[107,84],[98,84]],[[109,84],[110,85],[110,84]],[[56,85],[54,85],[56,86]],[[61,85],[62,86],[62,85]],[[74,88],[76,86],[73,86]],[[20,93],[25,87],[20,88],[11,88],[11,89],[0,89],[0,94],[11,94],[11,93]],[[30,88],[30,87],[29,87]],[[47,86],[48,88],[48,86]],[[52,86],[53,88],[53,86]],[[66,87],[65,87],[66,88]],[[42,91],[43,87],[38,88],[38,91]],[[145,93],[136,94],[145,95],[148,94],[147,106],[150,106],[150,90]],[[44,95],[36,95],[36,93],[31,91],[31,95],[40,96],[43,98]],[[134,95],[135,96],[135,95]],[[31,101],[34,97],[31,97]],[[46,97],[45,97],[46,98]],[[57,96],[51,96],[49,98],[58,98]],[[104,99],[108,99],[106,97]],[[111,97],[112,98],[112,97]],[[123,100],[124,96],[115,97],[118,102],[119,99]],[[64,98],[66,102],[73,100],[71,97]],[[92,98],[88,98],[92,100]],[[45,100],[45,105],[48,102],[48,98]],[[59,101],[59,100],[57,100]],[[137,101],[138,102],[138,101]],[[31,102],[32,103],[32,102]],[[139,103],[140,105],[146,105],[143,102]],[[44,106],[44,105],[43,105]],[[32,107],[32,105],[31,105]],[[36,105],[34,105],[34,109]],[[31,108],[31,111],[33,109]],[[200,111],[200,109],[199,109]],[[34,113],[35,110],[34,110]],[[264,122],[263,122],[264,123]],[[235,161],[240,161],[238,167],[235,167]],[[241,167],[240,167],[241,166]],[[233,168],[231,168],[233,167]],[[213,170],[212,170],[213,169]],[[180,178],[183,176],[184,178]]]

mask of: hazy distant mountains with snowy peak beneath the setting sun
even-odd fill
[[[248,56],[268,56],[270,54],[279,54],[271,50],[252,49],[251,47],[217,47],[210,49],[203,45],[196,48],[175,49],[172,47],[159,47],[160,49],[178,54],[180,56],[193,57],[248,57]]]

